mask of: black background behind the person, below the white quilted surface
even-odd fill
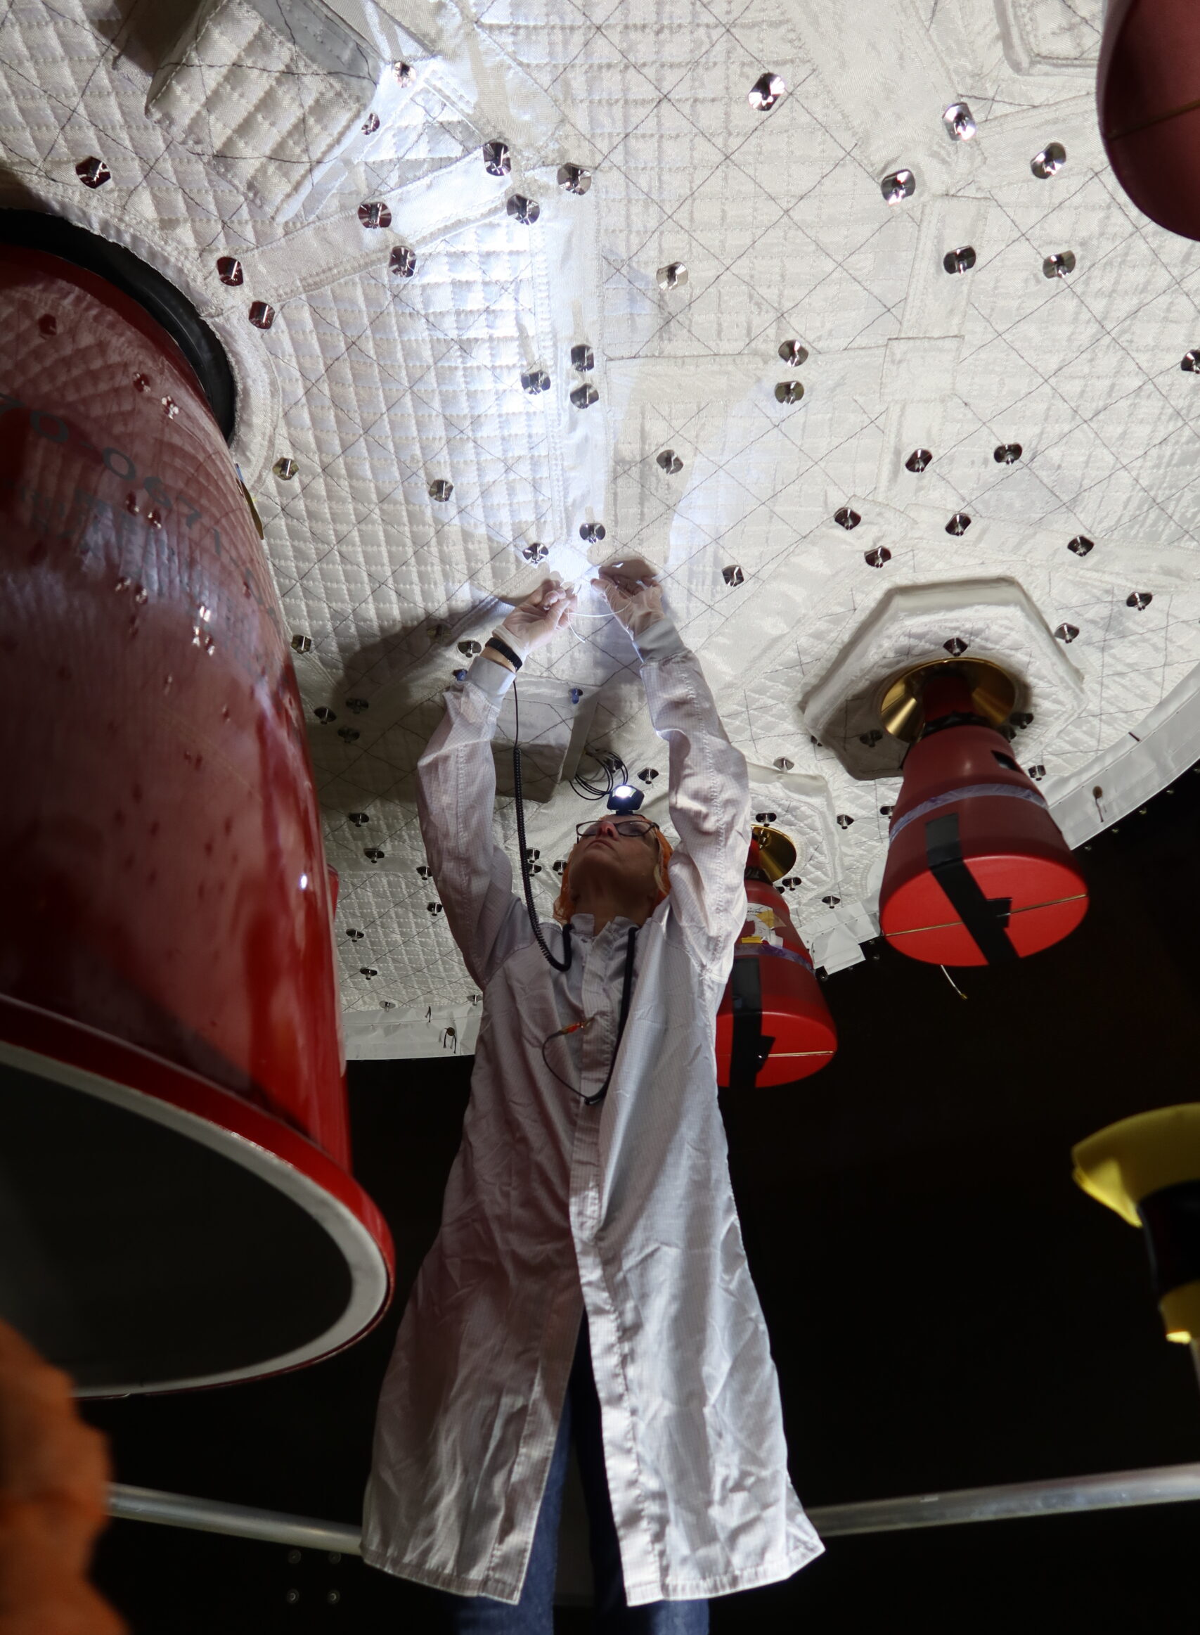
[[[827,983],[832,1066],[724,1097],[806,1504],[1200,1458],[1190,1352],[1162,1339],[1141,1239],[1069,1161],[1102,1125],[1197,1097],[1198,832],[1200,777],[1184,775],[1084,849],[1084,925],[956,973],[966,1001],[873,945]],[[356,1172],[399,1252],[384,1323],[280,1380],[85,1404],[119,1481],[358,1521],[469,1071],[351,1064]],[[1198,1543],[1197,1504],[832,1539],[791,1581],[713,1602],[713,1630],[1195,1628]],[[435,1628],[417,1586],[358,1560],[139,1522],[108,1529],[95,1576],[134,1635]],[[562,1632],[589,1627],[561,1612]]]

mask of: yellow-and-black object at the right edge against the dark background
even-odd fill
[[[1141,1226],[1167,1339],[1200,1341],[1200,1102],[1122,1118],[1071,1158],[1089,1197]]]

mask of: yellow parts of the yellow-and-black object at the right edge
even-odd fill
[[[1200,1102],[1135,1113],[1087,1136],[1071,1153],[1074,1180],[1130,1226],[1141,1226],[1138,1205],[1164,1187],[1200,1182]],[[1200,1337],[1200,1280],[1159,1298],[1167,1339]]]

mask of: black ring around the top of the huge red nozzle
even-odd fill
[[[234,437],[237,387],[224,347],[175,284],[111,239],[77,227],[65,216],[34,209],[0,209],[0,244],[60,255],[64,262],[98,273],[131,296],[178,345],[201,384],[226,443]]]

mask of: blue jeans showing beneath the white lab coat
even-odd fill
[[[567,1398],[562,1404],[546,1491],[538,1511],[522,1599],[515,1607],[510,1607],[490,1596],[451,1596],[438,1591],[446,1628],[453,1630],[454,1635],[554,1635],[557,1534],[572,1434],[584,1478],[584,1498],[587,1499],[598,1635],[708,1635],[706,1601],[652,1601],[643,1607],[626,1607],[625,1604],[621,1553],[616,1543],[613,1507],[608,1499],[605,1450],[600,1437],[600,1400],[595,1395],[595,1380],[592,1378],[587,1318],[579,1331],[579,1346],[571,1367]]]

